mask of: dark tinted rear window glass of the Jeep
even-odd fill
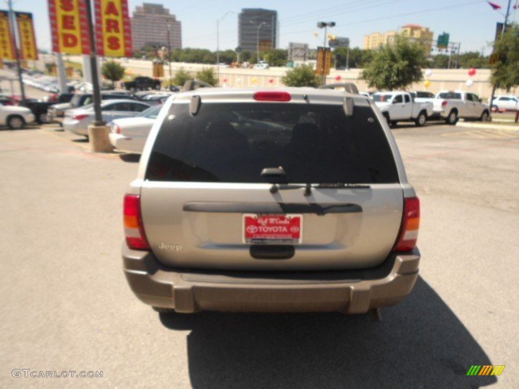
[[[282,166],[289,183],[395,183],[387,137],[370,107],[172,104],[148,161],[155,181],[263,183]]]

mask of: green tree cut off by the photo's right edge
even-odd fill
[[[519,85],[519,25],[507,27],[507,31],[494,45],[494,63],[491,82],[497,87],[510,91]]]

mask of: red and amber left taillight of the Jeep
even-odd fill
[[[141,217],[141,198],[137,195],[125,195],[123,207],[126,244],[133,250],[148,250]]]

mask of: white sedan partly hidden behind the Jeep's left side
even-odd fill
[[[121,151],[141,154],[160,108],[161,105],[156,105],[132,118],[114,120],[110,133],[112,146]]]

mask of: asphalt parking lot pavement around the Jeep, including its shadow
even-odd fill
[[[119,254],[139,157],[91,154],[51,125],[0,130],[0,386],[519,387],[519,131],[392,131],[421,200],[422,261],[412,295],[376,323],[157,314],[131,294]],[[506,368],[467,377],[472,365]]]

